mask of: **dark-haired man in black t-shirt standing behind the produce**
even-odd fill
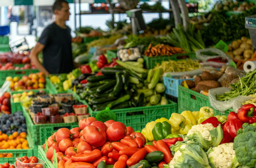
[[[69,4],[57,0],[53,5],[56,20],[42,32],[36,46],[31,50],[30,58],[37,69],[46,75],[51,73],[68,73],[73,69],[71,30],[65,24],[69,20]],[[38,60],[42,51],[43,65]]]

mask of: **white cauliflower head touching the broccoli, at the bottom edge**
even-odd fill
[[[221,144],[207,152],[210,164],[216,168],[235,168],[239,166],[233,143]]]

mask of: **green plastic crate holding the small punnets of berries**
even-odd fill
[[[27,112],[23,107],[23,116],[26,118],[28,134],[32,137],[34,146],[42,145],[46,139],[56,132],[59,128],[72,129],[78,127],[78,123],[56,123],[56,124],[37,124],[35,125]]]

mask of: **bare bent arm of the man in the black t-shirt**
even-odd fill
[[[50,73],[45,69],[44,66],[39,62],[38,60],[38,54],[45,48],[45,45],[41,43],[36,43],[35,47],[31,50],[31,53],[29,55],[31,61],[35,64],[36,68],[40,72],[44,72],[46,75],[49,75]]]

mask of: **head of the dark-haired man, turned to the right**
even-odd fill
[[[65,0],[57,0],[53,6],[52,10],[56,15],[56,19],[67,21],[69,20],[69,3]]]

